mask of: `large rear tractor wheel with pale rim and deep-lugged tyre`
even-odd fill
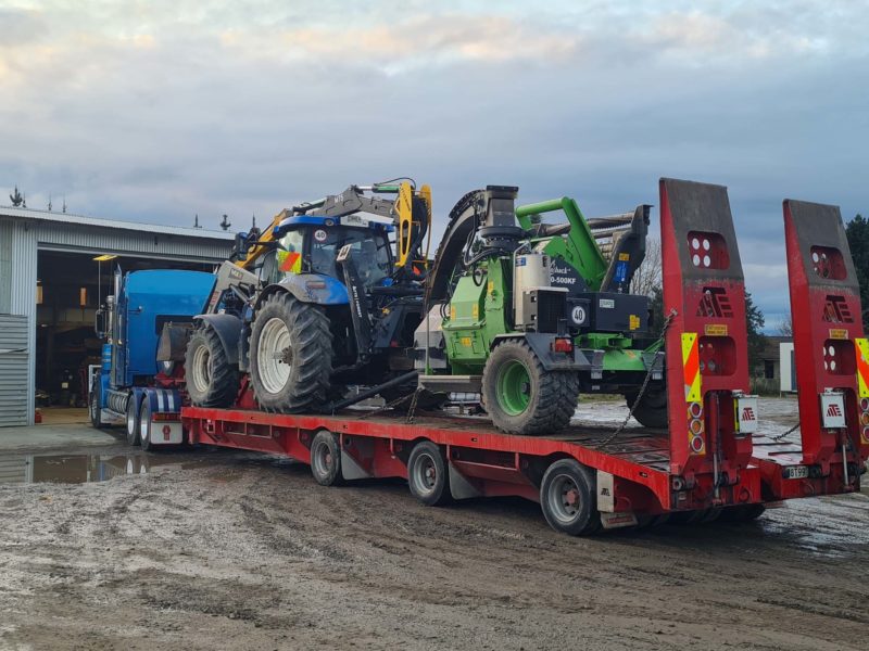
[[[251,384],[264,410],[300,412],[328,400],[332,334],[318,306],[272,294],[256,311],[250,350]]]

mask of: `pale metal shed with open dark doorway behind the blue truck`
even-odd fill
[[[84,406],[96,311],[116,269],[211,271],[234,234],[0,207],[0,426],[36,406]]]

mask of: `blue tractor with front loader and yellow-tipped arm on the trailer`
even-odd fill
[[[240,237],[187,346],[191,403],[237,404],[245,376],[273,412],[333,408],[348,385],[412,394],[430,222],[427,186],[388,182],[294,206]]]

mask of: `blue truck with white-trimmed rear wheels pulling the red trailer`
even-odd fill
[[[113,294],[97,315],[103,345],[89,381],[95,427],[125,424],[128,443],[144,449],[184,442],[180,365],[158,361],[158,347],[166,324],[192,323],[213,286],[214,276],[202,271],[116,270]]]

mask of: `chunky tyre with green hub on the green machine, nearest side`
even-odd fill
[[[579,375],[545,371],[524,341],[495,346],[482,372],[482,406],[508,434],[552,434],[569,422],[579,398]]]

